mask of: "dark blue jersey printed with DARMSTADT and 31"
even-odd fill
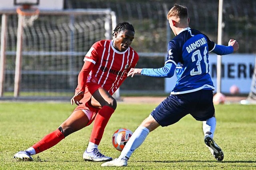
[[[176,65],[178,80],[171,94],[183,94],[200,89],[214,90],[209,74],[208,53],[215,47],[206,35],[185,28],[168,44],[166,63]]]

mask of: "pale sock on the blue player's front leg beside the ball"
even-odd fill
[[[124,149],[122,150],[119,158],[128,160],[134,150],[138,148],[148,136],[149,130],[148,128],[139,126],[134,133],[132,134],[131,138],[128,140]]]

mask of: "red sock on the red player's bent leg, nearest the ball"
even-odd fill
[[[98,111],[94,120],[90,142],[97,145],[100,144],[100,140],[102,139],[104,129],[114,111],[115,109],[109,106],[103,106],[102,109]]]

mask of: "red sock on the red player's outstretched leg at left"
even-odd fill
[[[60,132],[59,129],[56,129],[55,131],[44,136],[44,138],[42,138],[40,141],[38,141],[36,144],[34,144],[31,147],[34,148],[36,150],[36,154],[38,154],[56,145],[58,142],[60,142],[64,138],[65,136],[63,135],[63,133]]]

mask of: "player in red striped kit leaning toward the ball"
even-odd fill
[[[84,57],[84,65],[78,75],[78,86],[71,99],[71,104],[78,106],[58,129],[30,148],[17,152],[14,158],[32,161],[31,155],[51,148],[69,134],[94,121],[83,158],[92,161],[112,160],[99,152],[98,145],[116,109],[116,100],[112,95],[126,79],[130,68],[135,67],[138,62],[138,54],[130,47],[134,34],[131,24],[121,22],[114,29],[113,40],[101,40],[92,45]]]

